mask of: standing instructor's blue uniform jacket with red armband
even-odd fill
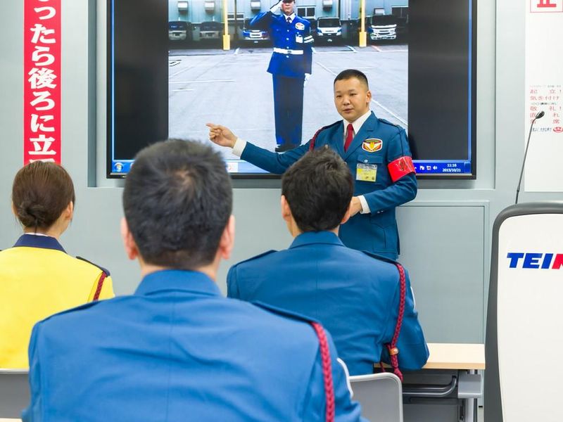
[[[340,120],[318,132],[314,147],[330,146],[346,161],[356,179],[354,195],[365,197],[370,213],[358,213],[350,218],[341,226],[339,236],[350,248],[396,260],[399,236],[395,207],[417,195],[417,179],[405,129],[378,119],[372,113],[346,152],[343,133],[343,121]],[[281,174],[310,149],[311,143],[309,141],[283,154],[246,143],[241,158],[268,172]],[[375,180],[358,180],[358,165],[377,166]]]

